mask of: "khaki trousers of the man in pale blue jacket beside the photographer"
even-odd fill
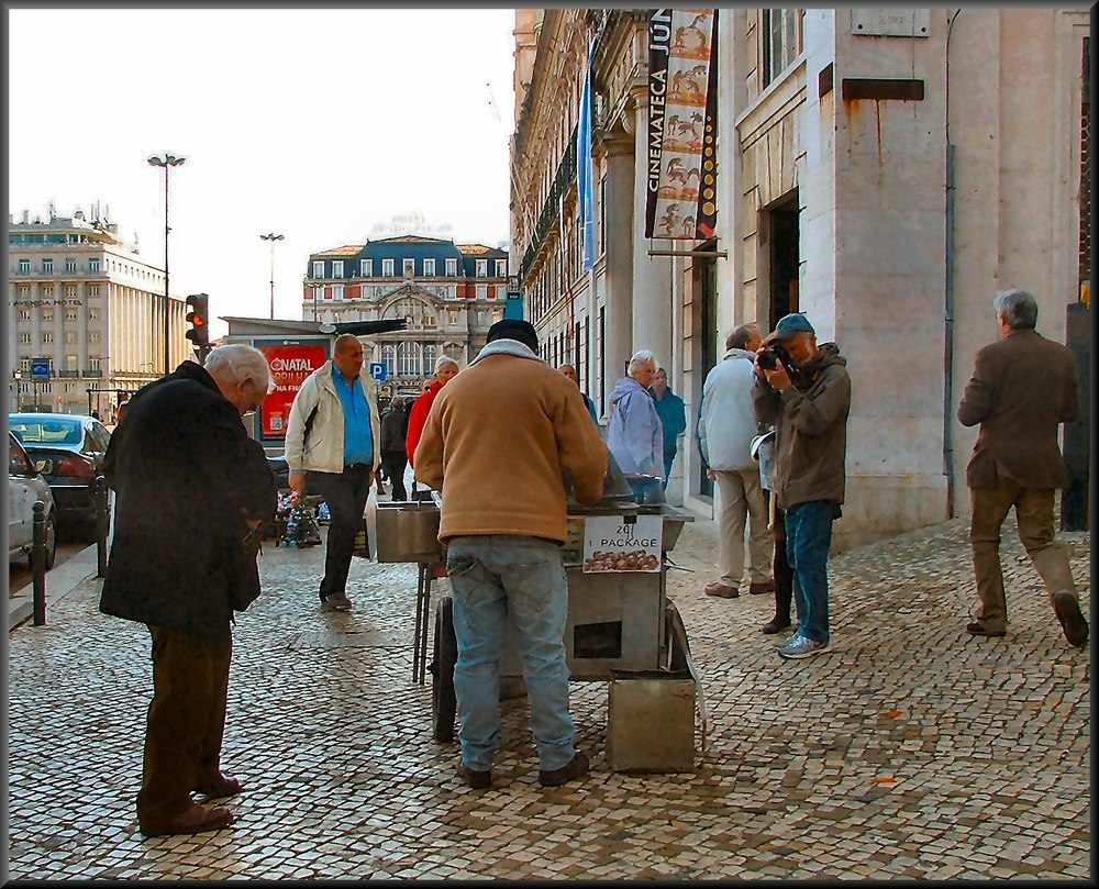
[[[770,580],[774,541],[767,527],[767,497],[759,486],[759,470],[714,469],[718,482],[718,562],[720,582],[740,587],[744,579],[744,524],[748,525],[750,582]]]

